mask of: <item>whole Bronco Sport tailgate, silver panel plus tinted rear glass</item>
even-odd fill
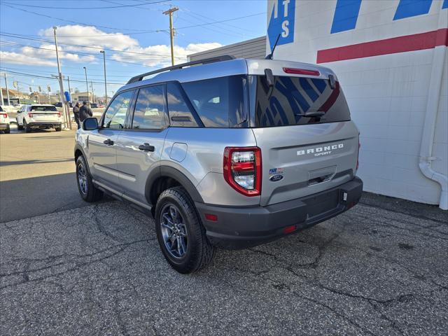
[[[285,73],[275,76],[270,90],[265,76],[251,83],[256,83],[251,127],[262,153],[260,205],[320,193],[353,179],[358,129],[336,79]]]

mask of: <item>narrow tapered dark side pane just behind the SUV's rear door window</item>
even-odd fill
[[[168,112],[173,127],[197,127],[195,117],[188,109],[179,87],[174,83],[167,84]]]

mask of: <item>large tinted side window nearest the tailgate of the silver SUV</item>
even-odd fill
[[[182,83],[205,127],[243,127],[246,76],[228,76]]]

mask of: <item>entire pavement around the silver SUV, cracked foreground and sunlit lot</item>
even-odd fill
[[[446,211],[364,193],[182,275],[151,218],[80,201],[73,141],[0,135],[0,335],[447,335]]]

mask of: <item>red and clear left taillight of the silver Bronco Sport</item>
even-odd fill
[[[224,179],[246,196],[261,195],[261,150],[258,147],[226,147]]]

